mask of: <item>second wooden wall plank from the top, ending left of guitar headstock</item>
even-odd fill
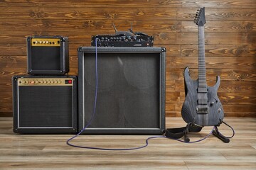
[[[143,8],[136,8],[131,11],[131,7],[123,6],[119,8],[113,6],[110,8],[59,8],[57,6],[53,8],[25,8],[20,11],[19,7],[14,7],[12,10],[17,11],[16,13],[9,12],[9,8],[0,7],[0,18],[1,19],[50,19],[50,20],[90,20],[95,18],[97,20],[176,20],[177,8],[155,8],[144,6]]]

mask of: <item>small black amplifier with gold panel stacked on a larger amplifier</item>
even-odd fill
[[[27,38],[28,74],[63,75],[69,72],[68,38],[30,36]]]

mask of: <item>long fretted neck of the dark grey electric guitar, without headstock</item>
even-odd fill
[[[198,26],[198,92],[207,92],[204,27]]]

